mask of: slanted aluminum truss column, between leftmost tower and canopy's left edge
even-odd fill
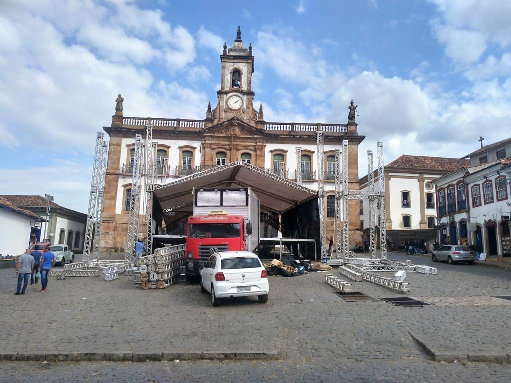
[[[140,218],[140,183],[142,180],[142,135],[135,135],[135,153],[133,159],[133,177],[131,182],[131,195],[128,218],[128,234],[126,238],[126,262],[133,257],[135,241],[138,237],[138,220]]]

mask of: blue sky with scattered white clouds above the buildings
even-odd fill
[[[378,142],[385,164],[461,158],[511,137],[509,17],[509,0],[2,0],[0,194],[87,213],[118,94],[124,116],[204,119],[238,26],[267,122],[344,124],[353,99],[360,176]]]

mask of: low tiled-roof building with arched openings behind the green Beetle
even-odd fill
[[[40,195],[0,195],[0,197],[16,208],[29,211],[37,217],[25,249],[32,243],[46,239],[52,245],[67,244],[75,253],[83,251],[86,214],[66,209]]]

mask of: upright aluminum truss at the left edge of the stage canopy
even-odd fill
[[[156,158],[158,143],[153,142],[153,125],[146,125],[146,216],[147,220],[147,253],[151,254],[153,248],[153,190],[157,184]]]

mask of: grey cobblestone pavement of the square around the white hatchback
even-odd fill
[[[496,297],[511,296],[511,271],[390,258],[438,273],[408,272],[409,293],[353,283],[374,298],[361,302],[334,294],[325,272],[273,276],[267,303],[213,308],[197,284],[142,290],[126,276],[51,277],[48,292],[15,296],[14,270],[3,269],[0,381],[508,383],[511,300]],[[432,304],[380,300],[399,296]]]

